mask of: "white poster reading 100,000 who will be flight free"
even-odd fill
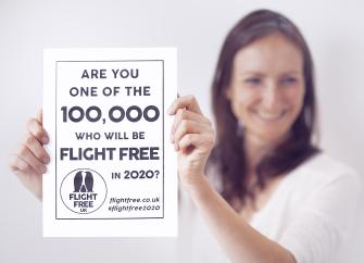
[[[43,236],[177,236],[176,49],[43,55]]]

